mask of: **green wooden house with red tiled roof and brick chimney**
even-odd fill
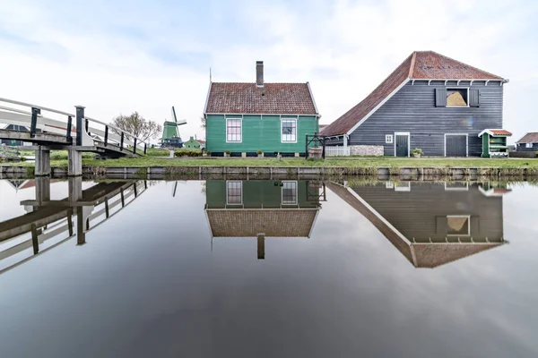
[[[205,103],[206,149],[213,156],[304,156],[306,135],[319,132],[319,113],[306,83],[265,83],[256,62],[256,82],[211,82]]]

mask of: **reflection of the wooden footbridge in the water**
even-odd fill
[[[0,223],[0,273],[65,243],[76,235],[86,243],[86,233],[100,226],[147,189],[146,181],[97,183],[82,190],[82,177],[69,178],[69,195],[50,200],[50,178],[36,179],[36,200],[21,202],[29,211]],[[74,221],[76,219],[76,221]],[[46,246],[43,250],[41,245]],[[33,249],[30,256],[24,251]],[[22,255],[22,257],[21,257]]]

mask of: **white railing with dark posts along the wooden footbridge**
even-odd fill
[[[2,106],[3,104],[16,107]],[[50,118],[49,115],[44,116],[42,112],[59,116],[61,119]],[[82,106],[77,106],[76,112],[72,114],[13,99],[0,98],[0,123],[30,126],[30,136],[34,136],[38,130],[65,135],[68,143],[73,143],[75,140],[74,144],[78,146],[92,146],[93,141],[98,141],[105,147],[114,146],[121,151],[128,150],[135,154],[145,154],[148,146],[133,133],[84,115]]]

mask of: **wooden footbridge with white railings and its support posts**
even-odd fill
[[[30,128],[30,132],[0,129],[0,139],[33,143],[36,151],[35,175],[50,175],[50,150],[68,151],[68,175],[82,175],[82,152],[102,157],[137,157],[145,154],[147,143],[112,124],[84,115],[84,107],[75,113],[0,98],[0,123]]]

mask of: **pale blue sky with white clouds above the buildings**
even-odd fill
[[[309,81],[329,124],[415,50],[509,79],[504,127],[538,131],[538,2],[0,0],[0,98],[109,122],[139,112],[204,138],[210,81]]]

